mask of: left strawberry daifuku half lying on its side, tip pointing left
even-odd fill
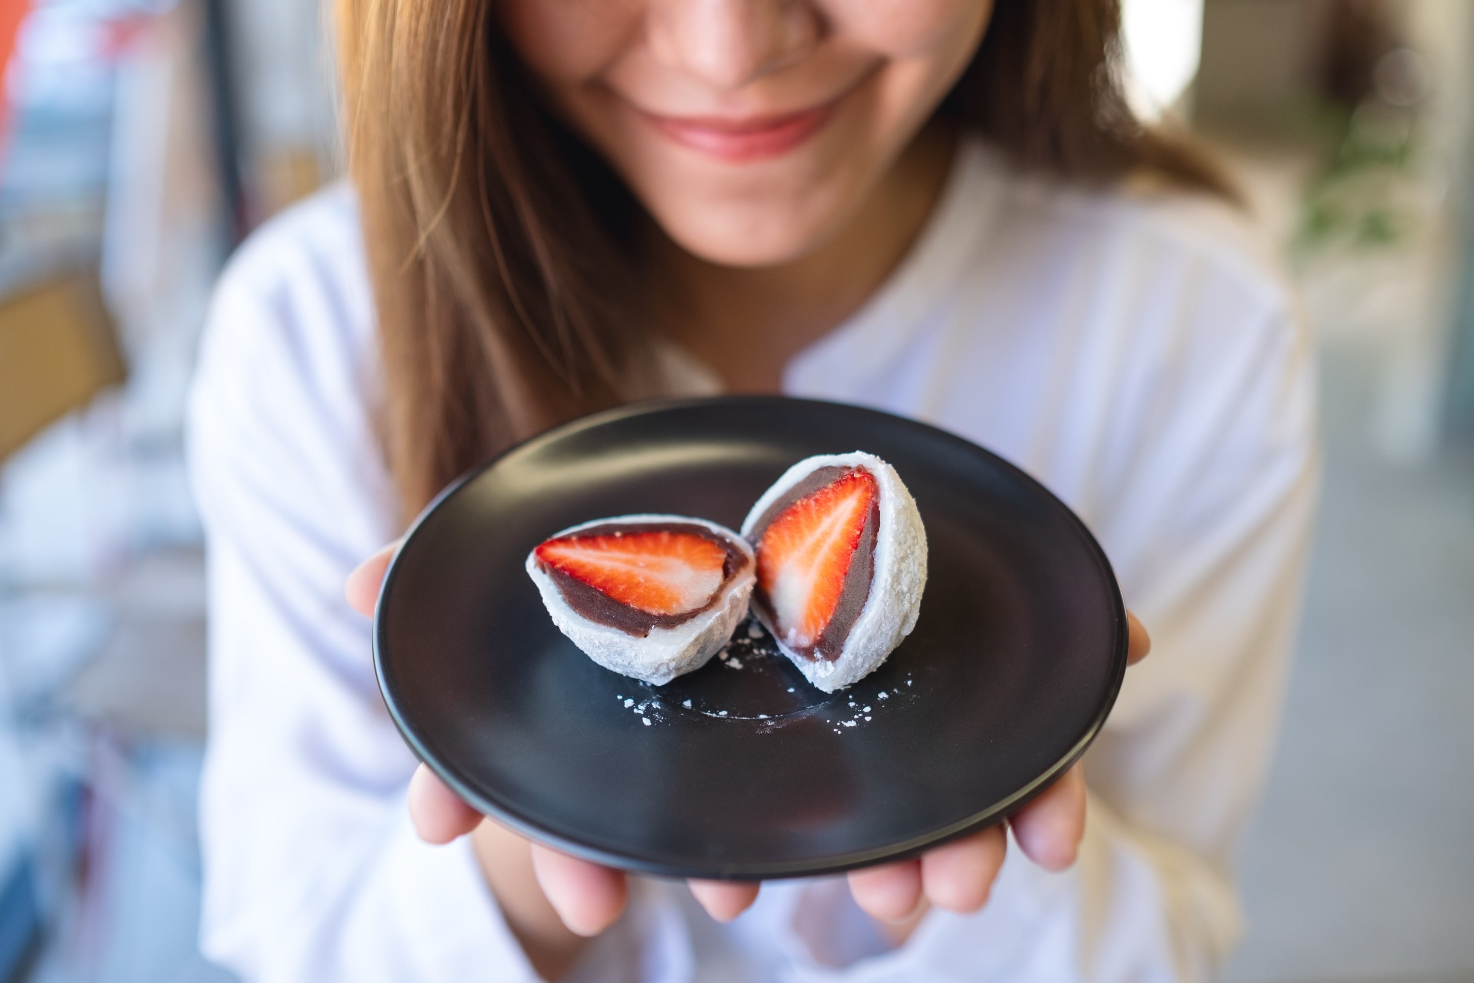
[[[747,615],[755,560],[731,529],[687,516],[618,516],[528,554],[553,623],[590,659],[656,685],[700,669]]]

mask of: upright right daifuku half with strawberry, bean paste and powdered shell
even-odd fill
[[[926,529],[896,470],[874,454],[809,457],[747,513],[753,613],[809,682],[870,675],[915,628]]]

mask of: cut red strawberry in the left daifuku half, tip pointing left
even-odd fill
[[[669,529],[575,532],[548,539],[535,553],[544,564],[610,600],[662,618],[708,604],[721,590],[727,563],[721,544]]]

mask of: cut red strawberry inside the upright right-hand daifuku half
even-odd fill
[[[834,616],[877,495],[874,475],[856,467],[797,500],[764,529],[758,590],[790,648],[811,648]]]

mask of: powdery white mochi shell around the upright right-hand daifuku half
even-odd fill
[[[876,476],[880,489],[880,525],[876,529],[876,563],[870,581],[870,597],[850,628],[839,659],[809,659],[789,648],[778,635],[775,625],[761,604],[753,604],[753,615],[772,632],[793,665],[803,676],[825,693],[834,693],[856,682],[880,668],[880,663],[896,650],[921,613],[921,592],[926,590],[926,528],[915,500],[907,491],[901,476],[886,461],[874,454],[853,451],[852,454],[821,454],[808,457],[783,473],[772,488],[762,494],[741,523],[741,535],[752,542],[753,528],[764,513],[790,488],[821,467],[864,467]]]

